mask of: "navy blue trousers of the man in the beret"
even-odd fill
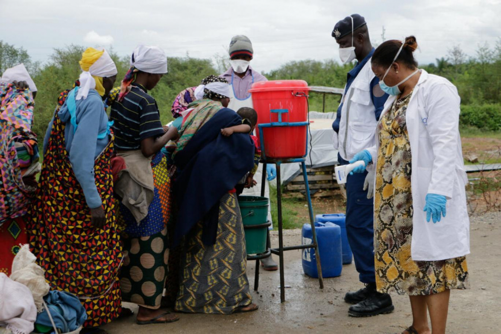
[[[338,154],[340,164],[349,162]],[[362,283],[375,283],[374,203],[367,199],[364,181],[367,172],[349,175],[346,181],[346,234]]]

